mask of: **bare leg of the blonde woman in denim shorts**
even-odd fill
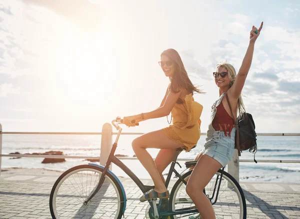
[[[203,189],[221,167],[218,161],[204,154],[198,160],[187,181],[186,193],[195,203],[203,219],[215,218],[213,207],[203,193]]]

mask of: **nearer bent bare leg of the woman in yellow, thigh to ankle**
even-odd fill
[[[146,148],[176,149],[182,146],[184,145],[165,136],[163,130],[143,134],[132,141],[132,148],[135,155],[150,174],[154,182],[155,191],[165,192],[167,189],[164,186],[153,158]]]

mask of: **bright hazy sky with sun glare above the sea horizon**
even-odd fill
[[[252,25],[263,29],[243,87],[256,132],[300,132],[297,0],[0,0],[3,131],[101,131],[116,116],[151,111],[168,85],[157,61],[176,49],[205,94],[201,132],[218,98],[212,72],[238,71]],[[124,131],[167,126],[166,117]]]

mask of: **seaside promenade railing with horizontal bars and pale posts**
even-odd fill
[[[33,155],[33,154],[1,154],[2,151],[2,134],[75,134],[75,135],[102,135],[101,145],[100,145],[100,156],[69,156],[69,155]],[[2,126],[0,124],[0,172],[1,172],[1,157],[32,157],[32,158],[83,158],[83,159],[99,159],[101,165],[105,165],[108,153],[112,145],[112,135],[117,134],[117,132],[112,132],[112,126],[110,123],[105,123],[102,126],[102,132],[24,132],[24,131],[2,131]],[[122,135],[141,135],[142,132],[122,132]],[[206,135],[202,132],[201,135]],[[300,133],[257,133],[257,135],[300,135]],[[137,160],[136,157],[128,156],[118,156],[119,159],[124,160]],[[178,161],[190,161],[193,159],[188,158],[177,158]],[[233,175],[235,179],[238,180],[239,165],[238,162],[253,162],[252,159],[239,159],[239,157],[234,153],[233,159],[227,165],[227,171]],[[283,163],[300,163],[300,160],[267,160],[258,159],[257,162],[283,162]],[[1,174],[1,173],[0,173]]]

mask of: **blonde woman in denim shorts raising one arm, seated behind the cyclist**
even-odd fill
[[[214,173],[225,166],[233,156],[234,120],[231,117],[226,97],[223,97],[227,93],[233,115],[236,117],[238,109],[244,108],[240,94],[250,69],[254,43],[259,36],[262,24],[261,22],[258,29],[252,26],[249,45],[237,75],[233,66],[226,62],[217,64],[216,72],[213,72],[215,84],[219,89],[219,98],[212,105],[204,149],[198,154],[196,158],[198,162],[186,185],[186,192],[195,203],[200,215],[189,218],[215,218],[213,207],[202,191]]]

